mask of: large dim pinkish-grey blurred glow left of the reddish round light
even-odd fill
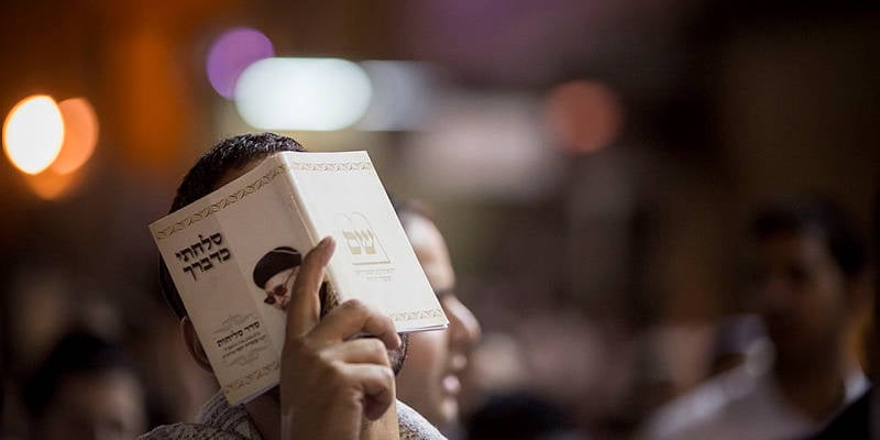
[[[462,199],[527,201],[562,176],[561,155],[544,146],[537,103],[504,94],[444,96],[429,130],[413,133],[402,166],[421,191]]]

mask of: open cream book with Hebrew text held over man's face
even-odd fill
[[[282,152],[150,230],[231,404],[278,383],[285,307],[306,252],[331,235],[327,278],[397,331],[446,315],[366,152]]]

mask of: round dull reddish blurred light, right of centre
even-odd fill
[[[607,86],[576,80],[556,87],[543,108],[544,123],[558,145],[592,153],[614,142],[623,122],[617,95]]]

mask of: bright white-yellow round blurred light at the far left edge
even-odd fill
[[[61,110],[45,95],[16,103],[3,123],[3,151],[16,168],[28,174],[37,174],[52,165],[63,141]]]

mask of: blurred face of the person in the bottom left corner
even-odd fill
[[[146,428],[143,391],[125,371],[77,374],[64,380],[37,420],[38,439],[134,439]]]

